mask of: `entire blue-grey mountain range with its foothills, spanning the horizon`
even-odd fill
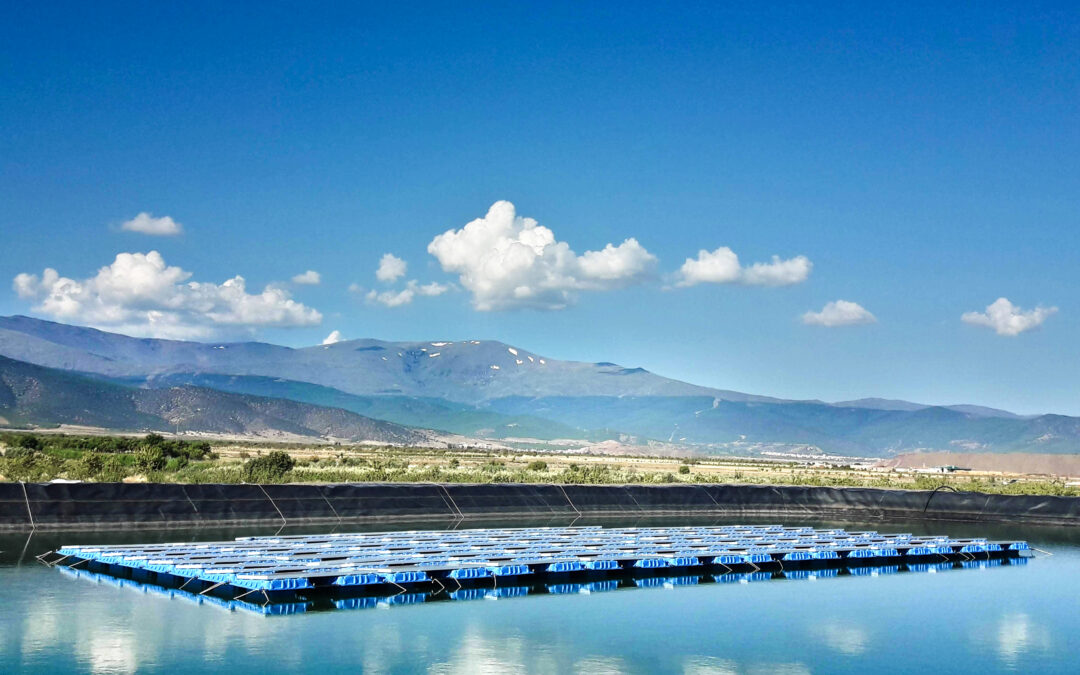
[[[24,384],[28,377],[48,380],[50,395],[60,400],[62,392],[97,387],[131,402],[123,419],[116,418],[119,408],[106,409],[106,396],[100,405],[86,400],[78,410],[79,423],[109,428],[157,429],[153,420],[175,417],[187,405],[188,410],[245,410],[247,421],[233,423],[237,429],[280,427],[285,432],[287,427],[301,435],[401,443],[431,440],[437,436],[434,430],[541,442],[663,442],[714,453],[800,445],[885,457],[912,450],[1075,453],[1080,447],[1080,418],[883,399],[786,401],[613,363],[561,361],[491,340],[359,339],[293,349],[133,338],[8,316],[0,318],[0,355],[6,357],[0,362],[4,382],[14,377],[9,372],[17,370]],[[31,365],[38,369],[28,369]],[[13,395],[0,389],[0,417],[64,421],[40,399],[30,405]],[[199,403],[183,403],[188,400]],[[189,417],[186,426],[192,430],[228,426],[224,414]]]

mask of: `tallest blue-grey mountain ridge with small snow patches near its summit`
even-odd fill
[[[283,378],[356,395],[465,404],[515,396],[714,396],[779,401],[688,384],[643,368],[557,361],[490,340],[349,340],[291,349],[265,342],[204,345],[131,338],[27,316],[0,318],[0,354],[108,377],[216,373]]]

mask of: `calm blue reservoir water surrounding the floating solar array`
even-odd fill
[[[33,555],[60,542],[272,530],[0,536],[0,673],[1080,672],[1080,528],[784,524],[1022,538],[1053,555],[937,573],[261,617],[71,579]]]

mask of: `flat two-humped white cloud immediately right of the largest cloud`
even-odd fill
[[[813,262],[806,256],[795,256],[787,260],[772,256],[770,262],[755,262],[743,267],[734,251],[720,246],[716,251],[699,251],[697,259],[687,258],[679,268],[675,285],[738,283],[751,286],[789,286],[809,279],[812,269]]]

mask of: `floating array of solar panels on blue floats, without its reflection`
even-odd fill
[[[68,545],[57,553],[67,564],[84,561],[113,571],[172,576],[244,590],[299,591],[321,585],[404,588],[433,580],[460,584],[585,571],[866,564],[934,556],[972,559],[1025,551],[1024,542],[773,525],[298,535],[205,543]]]

